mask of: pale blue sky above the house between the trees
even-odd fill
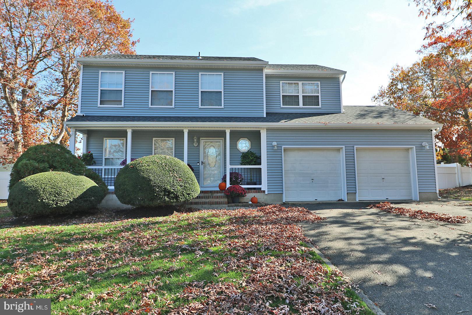
[[[389,70],[418,59],[425,22],[407,0],[114,0],[136,53],[257,57],[347,71],[345,105],[370,105]],[[410,4],[410,5],[409,5]]]

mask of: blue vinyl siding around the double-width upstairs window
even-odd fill
[[[319,81],[321,88],[321,108],[281,108],[280,81]],[[266,76],[267,112],[341,112],[341,93],[338,77],[272,77]]]

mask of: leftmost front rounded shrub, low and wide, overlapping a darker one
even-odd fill
[[[103,191],[82,175],[48,171],[17,182],[8,195],[15,216],[39,216],[87,211],[97,207]]]

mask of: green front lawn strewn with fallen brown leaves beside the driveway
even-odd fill
[[[267,206],[0,228],[0,298],[51,298],[53,314],[374,314],[303,243],[301,220],[321,218]]]

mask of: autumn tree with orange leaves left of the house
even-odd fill
[[[19,156],[29,146],[67,143],[77,111],[76,57],[135,53],[132,20],[108,1],[0,1],[0,137]]]

